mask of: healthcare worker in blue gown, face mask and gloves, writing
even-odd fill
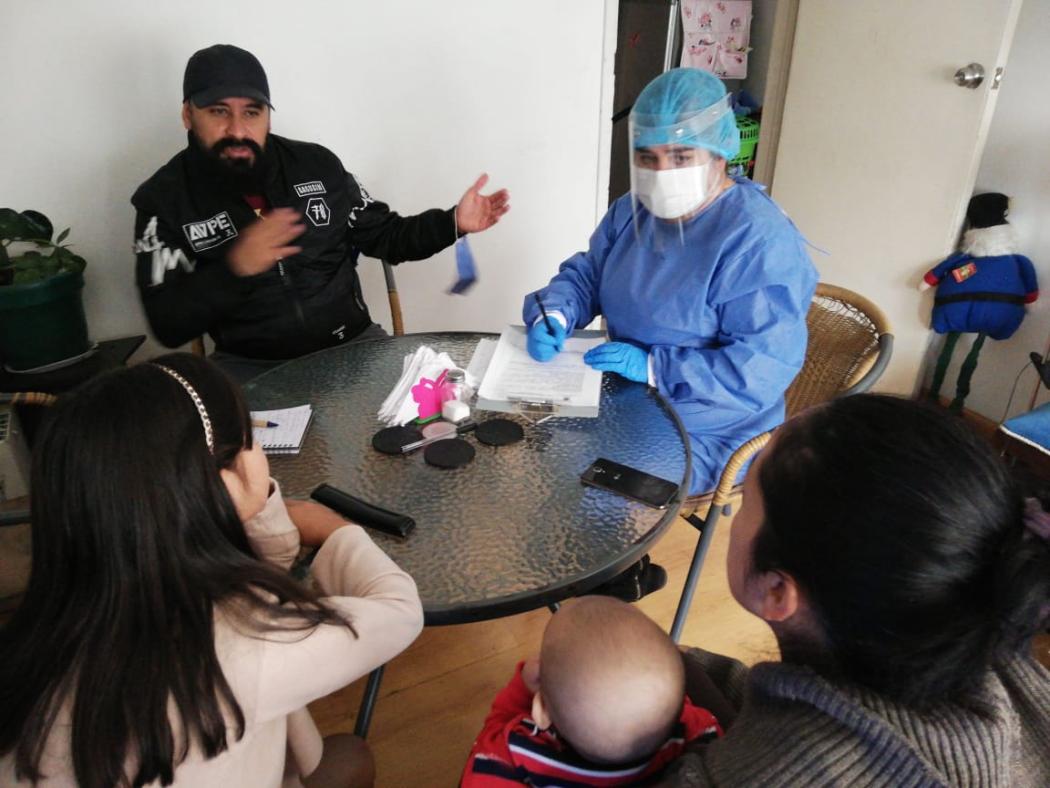
[[[528,351],[553,358],[605,315],[610,341],[584,359],[659,390],[689,432],[692,494],[714,489],[741,443],[780,423],[805,357],[817,271],[805,242],[755,184],[727,175],[740,147],[721,80],[675,68],[630,115],[631,192],[590,248],[525,297]]]

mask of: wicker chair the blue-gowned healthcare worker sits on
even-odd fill
[[[819,402],[867,391],[886,369],[894,349],[894,335],[882,310],[842,287],[817,285],[805,324],[810,334],[805,361],[784,394],[789,418]],[[671,626],[675,642],[681,637],[715,525],[721,515],[731,513],[731,503],[740,493],[737,476],[772,434],[757,435],[737,449],[722,469],[718,486],[682,504],[682,516],[700,536]],[[701,518],[697,512],[704,506],[707,513]]]

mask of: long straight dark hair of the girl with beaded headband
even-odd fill
[[[240,392],[195,356],[155,360],[201,395],[214,454],[186,390],[153,364],[60,402],[35,447],[33,569],[0,629],[0,753],[14,750],[20,777],[46,776],[41,755],[64,704],[87,788],[168,785],[190,746],[206,758],[229,746],[227,720],[239,739],[216,605],[236,602],[260,634],[344,623],[249,546],[219,476],[252,444]]]

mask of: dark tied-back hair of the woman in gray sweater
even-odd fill
[[[818,669],[922,707],[967,698],[1046,626],[1050,545],[956,416],[889,396],[835,400],[781,428],[759,488],[753,568],[802,587],[831,651]]]

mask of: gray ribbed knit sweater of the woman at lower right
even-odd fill
[[[726,737],[687,750],[660,785],[1050,786],[1050,672],[1016,658],[983,679],[982,717],[926,713],[783,663],[690,651],[739,713]]]

